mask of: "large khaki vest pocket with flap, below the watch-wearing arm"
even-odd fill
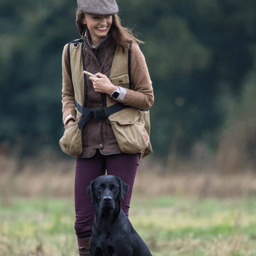
[[[125,108],[109,116],[113,132],[122,152],[135,154],[143,151],[149,143],[145,121],[141,111]]]

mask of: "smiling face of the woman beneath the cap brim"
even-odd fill
[[[84,14],[84,23],[90,31],[92,39],[106,36],[112,25],[112,15],[92,15]]]

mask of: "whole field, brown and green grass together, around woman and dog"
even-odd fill
[[[19,163],[0,158],[1,256],[78,254],[73,230],[75,164],[75,159]],[[256,255],[256,173],[175,166],[168,170],[159,161],[144,159],[135,179],[129,218],[153,255]],[[30,198],[13,201],[17,196]],[[17,212],[20,217],[12,223]]]

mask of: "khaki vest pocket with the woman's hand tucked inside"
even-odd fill
[[[63,137],[60,139],[61,150],[70,156],[80,156],[83,151],[82,130],[78,126],[79,120],[66,125]]]

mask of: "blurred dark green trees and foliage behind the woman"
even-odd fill
[[[214,152],[255,162],[256,1],[119,0],[153,81],[153,156]],[[79,38],[77,2],[0,2],[0,150],[60,153],[61,55]],[[197,145],[201,145],[198,147]],[[230,153],[231,152],[231,153]],[[241,153],[243,152],[243,153]],[[200,154],[201,154],[200,153]],[[230,155],[231,154],[231,155]],[[256,162],[254,163],[256,164]],[[223,166],[223,165],[222,165]]]

